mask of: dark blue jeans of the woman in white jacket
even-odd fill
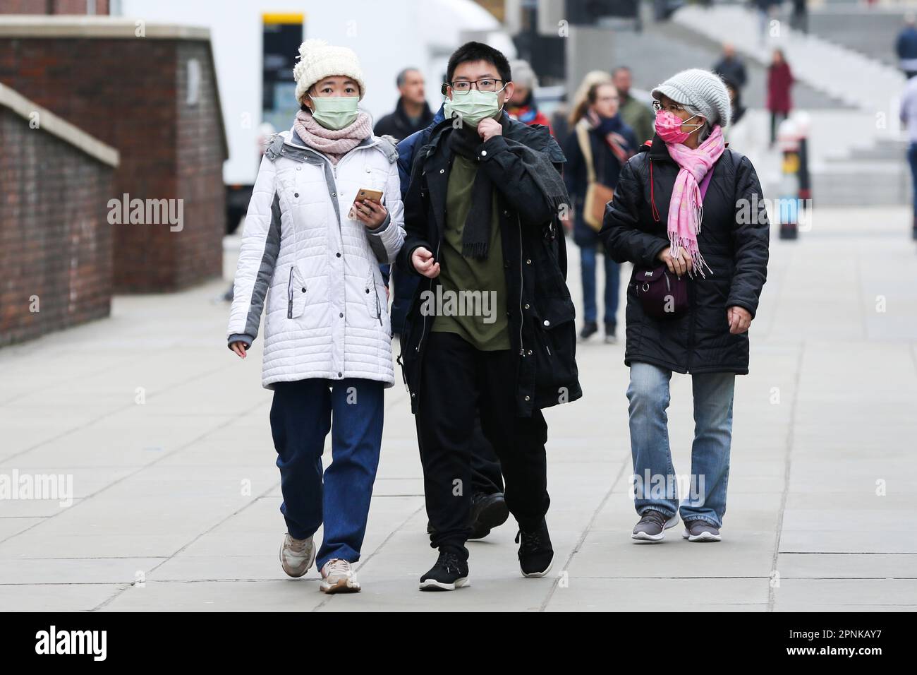
[[[333,557],[359,560],[379,466],[383,389],[381,382],[356,377],[275,384],[271,435],[281,470],[281,512],[296,539],[325,523],[318,569]],[[332,462],[323,485],[329,431]]]

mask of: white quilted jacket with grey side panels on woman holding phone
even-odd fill
[[[379,265],[404,241],[397,152],[375,136],[334,166],[292,131],[261,160],[238,256],[227,340],[248,344],[264,312],[261,384],[362,377],[391,387],[392,327]],[[370,231],[348,211],[381,190],[388,218]]]

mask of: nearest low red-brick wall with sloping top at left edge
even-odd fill
[[[112,168],[6,107],[0,147],[0,345],[108,316]]]

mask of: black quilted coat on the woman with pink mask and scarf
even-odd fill
[[[658,136],[640,151],[624,164],[599,236],[615,261],[657,266],[657,255],[668,246],[668,202],[679,165]],[[706,277],[689,279],[691,309],[672,319],[647,316],[628,285],[627,366],[748,373],[748,332],[729,332],[726,309],[742,307],[752,317],[757,312],[768,272],[768,215],[747,157],[726,148],[712,170],[698,246],[713,274],[704,270]]]

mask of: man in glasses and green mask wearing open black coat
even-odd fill
[[[422,590],[453,590],[468,579],[465,488],[479,409],[519,523],[520,568],[526,577],[547,574],[554,550],[541,409],[581,396],[557,218],[568,202],[558,169],[563,153],[547,129],[503,112],[513,84],[499,51],[463,45],[449,59],[447,80],[447,119],[414,153],[398,256],[404,269],[425,277],[400,357],[435,529],[431,546],[439,549]],[[457,310],[470,297],[482,311]]]

